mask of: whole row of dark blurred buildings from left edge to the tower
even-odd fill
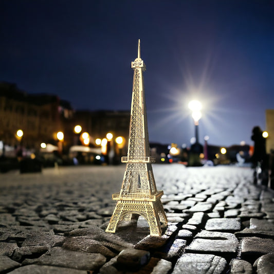
[[[129,123],[130,111],[74,111],[68,101],[56,95],[30,95],[15,84],[0,82],[0,141],[6,145],[22,144],[31,149],[39,149],[41,142],[56,145],[57,132],[62,131],[66,153],[72,145],[82,144],[83,132],[90,136],[90,147],[109,132],[114,139],[122,136],[127,141]],[[82,127],[78,135],[75,125]],[[21,140],[16,137],[17,130],[24,133]]]

